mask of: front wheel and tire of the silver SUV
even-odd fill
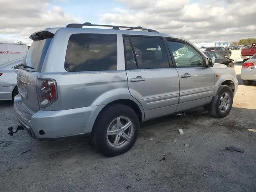
[[[227,100],[225,99],[225,96],[227,96]],[[231,88],[229,86],[221,85],[216,95],[212,98],[212,102],[210,103],[210,110],[209,110],[210,115],[215,118],[226,117],[232,108],[233,97],[234,97],[234,94]],[[222,102],[221,102],[221,98],[222,98]],[[228,101],[229,103],[227,104]],[[222,104],[226,106],[226,109]],[[222,105],[222,108],[221,108],[221,105]]]

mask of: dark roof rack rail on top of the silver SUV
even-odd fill
[[[112,27],[114,30],[120,30],[120,28],[127,28],[126,30],[134,30],[134,29],[141,29],[141,30],[147,30],[148,32],[155,32],[158,33],[158,31],[153,30],[153,29],[146,29],[142,28],[140,26],[137,27],[128,27],[128,26],[117,26],[117,25],[99,25],[99,24],[91,24],[89,22],[86,23],[70,23],[66,27],[71,27],[71,28],[82,28],[83,26],[97,26],[97,27]]]

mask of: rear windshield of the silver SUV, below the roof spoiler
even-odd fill
[[[34,41],[26,55],[26,59],[23,64],[30,66],[31,68],[24,68],[24,70],[40,72],[44,63],[44,58],[46,56],[47,50],[49,48],[52,38],[46,38],[43,40]]]

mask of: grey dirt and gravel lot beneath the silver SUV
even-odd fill
[[[0,142],[0,191],[255,192],[256,133],[247,129],[256,128],[256,84],[241,85],[240,65],[240,85],[226,118],[200,108],[146,122],[134,147],[114,158],[95,152],[90,139],[38,141],[25,131],[10,137],[14,110],[1,102],[0,140],[11,142]],[[245,152],[226,150],[231,145]]]

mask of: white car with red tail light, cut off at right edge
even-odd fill
[[[256,81],[256,54],[242,65],[241,79],[245,85],[250,85]]]

